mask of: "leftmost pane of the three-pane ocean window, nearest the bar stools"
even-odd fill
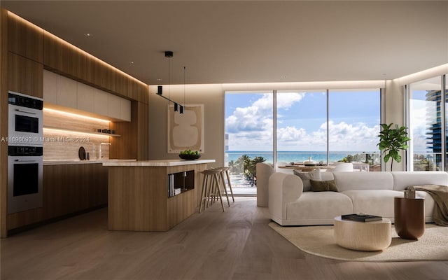
[[[255,194],[256,163],[273,163],[272,99],[272,91],[225,94],[225,164],[237,194]]]

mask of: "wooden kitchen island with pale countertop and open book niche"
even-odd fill
[[[215,160],[103,162],[109,230],[167,231],[195,213],[200,171]]]

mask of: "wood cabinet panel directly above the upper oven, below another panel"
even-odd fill
[[[8,89],[43,98],[43,65],[9,52]]]

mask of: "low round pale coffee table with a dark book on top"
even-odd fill
[[[339,246],[358,251],[379,251],[391,245],[391,220],[355,222],[335,218],[335,241]]]

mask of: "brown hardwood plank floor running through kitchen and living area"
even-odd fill
[[[112,232],[107,209],[1,239],[6,279],[447,279],[448,262],[343,262],[303,253],[236,197],[169,232]]]

